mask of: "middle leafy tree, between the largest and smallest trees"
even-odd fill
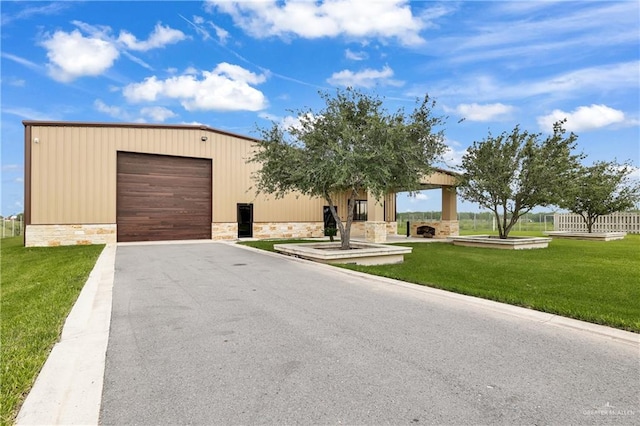
[[[577,136],[565,135],[564,121],[542,140],[516,126],[510,133],[474,142],[462,158],[460,196],[493,212],[500,238],[536,206],[557,205],[582,155],[573,154]]]

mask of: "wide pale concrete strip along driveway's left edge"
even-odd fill
[[[29,392],[17,425],[98,424],[111,323],[116,245],[107,245],[89,274]]]

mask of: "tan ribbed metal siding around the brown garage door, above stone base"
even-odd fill
[[[255,222],[322,221],[324,200],[256,196],[248,139],[197,127],[29,126],[33,224],[116,223],[118,151],[213,159],[213,222],[235,222],[237,203],[254,204]]]

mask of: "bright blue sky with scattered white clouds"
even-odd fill
[[[489,131],[567,118],[587,163],[640,163],[638,1],[1,2],[2,206],[23,210],[22,120],[202,123],[257,136],[318,90],[395,110],[426,93],[454,168]],[[461,123],[461,118],[465,120]],[[440,210],[439,191],[398,211]],[[459,202],[459,211],[477,211]]]

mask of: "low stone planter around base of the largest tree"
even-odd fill
[[[320,263],[353,263],[356,265],[389,265],[404,262],[411,247],[351,242],[351,250],[340,250],[340,243],[275,244],[274,250],[289,256]]]

